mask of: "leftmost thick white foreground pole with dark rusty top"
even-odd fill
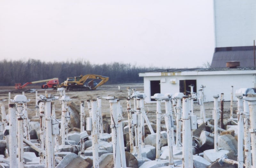
[[[16,124],[16,106],[15,104],[9,104],[9,156],[10,167],[17,167],[17,124]]]

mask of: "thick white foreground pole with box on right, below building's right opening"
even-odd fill
[[[183,167],[191,167],[193,165],[193,153],[188,96],[183,97],[182,109],[182,165]]]

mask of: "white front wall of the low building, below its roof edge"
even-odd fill
[[[235,92],[239,88],[256,88],[254,74],[224,74],[224,75],[191,75],[191,76],[153,76],[144,77],[144,93],[147,95],[145,101],[150,101],[150,81],[160,80],[161,93],[175,94],[180,92],[180,80],[196,80],[197,91],[201,85],[204,85],[205,101],[213,101],[212,96],[224,93],[224,100],[230,101],[231,86],[233,86],[233,100],[236,100]],[[176,80],[176,84],[173,81]],[[165,82],[164,82],[165,81]],[[188,89],[187,89],[188,90]],[[190,91],[190,89],[189,89]],[[198,94],[199,96],[199,94]]]

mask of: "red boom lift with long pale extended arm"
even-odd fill
[[[21,83],[15,83],[16,89],[22,89],[28,84],[34,84],[34,83],[41,83],[41,82],[47,82],[45,85],[42,85],[41,88],[54,88],[59,85],[59,79],[58,78],[52,78],[52,79],[46,79],[41,81],[33,81],[33,82],[27,82],[24,85],[21,85]]]

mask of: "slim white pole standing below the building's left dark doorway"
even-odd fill
[[[161,152],[161,100],[156,100],[156,161],[160,161]]]

